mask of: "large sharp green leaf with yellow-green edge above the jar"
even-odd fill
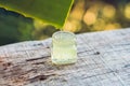
[[[63,27],[74,0],[0,0],[0,6]]]

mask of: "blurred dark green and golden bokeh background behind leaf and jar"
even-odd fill
[[[130,0],[75,0],[63,30],[75,33],[130,27]],[[0,45],[44,40],[55,27],[0,8]]]

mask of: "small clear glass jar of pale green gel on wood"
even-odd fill
[[[77,61],[76,35],[73,32],[57,31],[52,35],[51,60],[54,64]]]

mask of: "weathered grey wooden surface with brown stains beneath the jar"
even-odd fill
[[[53,66],[51,39],[0,47],[0,86],[130,86],[130,29],[77,35],[78,61]]]

